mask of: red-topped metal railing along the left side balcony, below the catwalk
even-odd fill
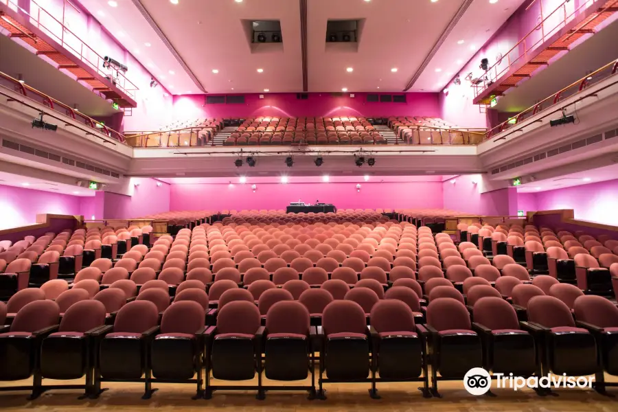
[[[56,113],[69,116],[71,117],[71,119],[76,120],[77,122],[84,124],[85,126],[88,126],[90,129],[96,130],[99,133],[103,133],[104,135],[111,137],[112,139],[125,143],[125,137],[122,133],[114,130],[113,128],[109,128],[108,126],[105,126],[101,122],[96,121],[92,117],[84,115],[84,113],[81,113],[75,108],[72,108],[71,106],[68,106],[67,104],[59,102],[58,100],[46,95],[42,91],[38,91],[34,89],[33,87],[28,86],[24,82],[20,82],[16,78],[12,78],[11,76],[8,76],[8,74],[6,73],[2,73],[1,71],[0,71],[0,86],[6,89],[13,90],[16,93],[21,93],[21,95],[23,95],[25,98],[28,98],[29,100],[32,100],[33,102],[43,104],[44,106],[49,107]],[[4,93],[1,93],[1,90],[0,90],[0,94],[5,95]],[[11,99],[9,95],[5,95],[5,96],[8,97],[10,100],[14,100],[14,99]],[[20,103],[25,104],[23,102],[20,102]],[[29,107],[35,110],[39,110],[35,106],[29,106]],[[45,113],[45,114],[50,115],[50,113]],[[87,133],[91,133],[91,130],[88,130],[88,129],[84,129],[84,130],[87,131]]]

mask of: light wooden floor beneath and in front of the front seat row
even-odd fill
[[[616,382],[608,377],[608,381]],[[28,385],[28,381],[0,382],[0,387]],[[54,381],[44,380],[54,384]],[[59,385],[80,384],[80,381],[58,382]],[[267,383],[264,382],[265,384]],[[307,382],[308,383],[308,382]],[[9,385],[10,384],[10,385]],[[217,384],[216,381],[213,382]],[[255,385],[254,382],[242,382]],[[298,385],[295,382],[295,385]],[[493,389],[495,398],[472,396],[464,389],[463,382],[439,382],[442,398],[424,399],[417,382],[383,383],[378,385],[380,400],[369,398],[369,384],[330,384],[327,400],[308,400],[306,393],[268,391],[266,400],[256,400],[255,393],[215,392],[211,400],[192,400],[194,385],[157,384],[159,389],[150,400],[141,400],[144,386],[139,383],[104,383],[108,391],[97,400],[79,400],[80,391],[49,391],[41,398],[27,400],[25,392],[0,392],[0,411],[45,411],[73,412],[92,410],[148,411],[157,408],[161,412],[203,411],[216,409],[220,412],[252,411],[380,411],[380,412],[614,412],[618,411],[618,398],[601,396],[594,391],[560,389],[557,396],[539,397],[534,391]],[[494,382],[495,388],[495,382]],[[610,388],[618,396],[618,388]]]

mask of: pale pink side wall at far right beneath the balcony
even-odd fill
[[[618,179],[536,193],[538,210],[573,209],[575,218],[618,225]]]

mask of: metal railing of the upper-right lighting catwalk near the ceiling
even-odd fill
[[[580,13],[580,11],[584,10],[585,8],[592,7],[592,4],[596,3],[597,1],[599,0],[586,0],[582,2],[582,4],[579,7],[573,10],[573,12],[571,12],[570,14],[567,14],[568,13],[567,5],[569,4],[573,5],[573,2],[571,0],[564,0],[562,4],[558,5],[558,7],[555,10],[547,14],[547,16],[543,17],[542,20],[536,26],[534,26],[534,28],[530,30],[530,32],[528,32],[520,41],[518,41],[508,52],[503,54],[503,57],[500,60],[495,62],[494,65],[489,67],[487,71],[483,73],[483,78],[486,77],[485,82],[481,84],[472,85],[472,87],[474,88],[474,97],[477,97],[479,94],[483,93],[485,89],[490,87],[499,78],[501,78],[506,73],[508,73],[516,62],[522,62],[522,61],[527,62],[529,54],[532,51],[536,50],[537,47],[545,43],[545,41],[547,41],[548,38],[558,33],[558,31],[562,27],[566,26],[571,20],[573,20],[575,16]],[[611,5],[609,5],[608,7],[604,8],[603,10],[607,10],[608,8],[610,8],[611,6],[617,3],[618,3],[618,0],[612,3]],[[539,4],[541,8],[540,15],[543,16],[542,1],[540,1]],[[549,21],[549,19],[552,19],[552,18],[554,19],[559,18],[558,24],[555,27],[551,28],[550,30],[547,30],[547,27],[545,27],[545,25]],[[587,23],[584,23],[584,26],[586,24]],[[534,37],[535,37],[534,35],[537,34],[539,30],[540,30],[540,38],[534,41]],[[523,49],[523,52],[519,52],[520,49]],[[519,52],[518,56],[516,56],[515,58],[511,58],[511,54],[513,52],[516,52],[516,53]],[[501,69],[500,67],[501,65],[503,65],[503,62],[505,60],[506,60],[506,66]]]

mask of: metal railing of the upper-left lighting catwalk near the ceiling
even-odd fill
[[[82,62],[87,63],[90,69],[95,70],[100,76],[109,80],[109,82],[111,82],[115,87],[135,99],[136,91],[139,90],[137,86],[130,82],[130,80],[124,76],[122,71],[111,67],[103,67],[105,62],[104,58],[67,28],[65,25],[66,0],[62,0],[62,21],[56,19],[56,17],[47,12],[47,10],[42,8],[41,5],[38,5],[38,3],[34,0],[30,0],[30,12],[21,8],[17,3],[17,0],[0,0],[0,4],[1,3],[8,5],[10,10],[19,12],[19,14],[23,14],[23,16],[30,17],[30,24],[34,25],[38,28],[38,30],[41,30],[47,36],[52,38],[52,40],[58,43],[58,45],[69,50],[73,56],[76,56]],[[71,5],[71,3],[69,3],[69,5]],[[71,5],[71,7],[75,8],[73,5]],[[5,19],[5,21],[12,25],[12,23],[10,23],[7,19]],[[23,32],[23,30],[19,27],[15,25],[13,26],[36,43],[36,38],[32,38],[32,36],[29,36],[27,33]]]

